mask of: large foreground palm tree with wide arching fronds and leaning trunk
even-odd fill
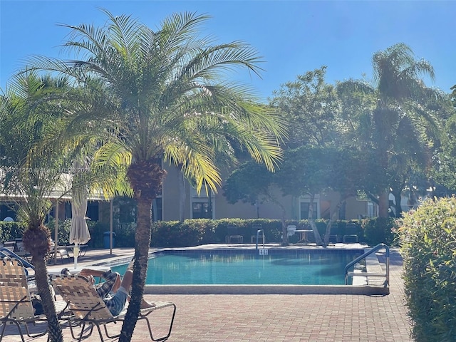
[[[130,16],[104,12],[103,27],[66,26],[72,32],[64,45],[77,53],[76,61],[37,57],[31,63],[66,73],[92,90],[98,110],[75,113],[68,133],[103,132],[98,161],[128,165],[138,217],[132,298],[120,341],[130,341],[145,285],[152,200],[165,177],[162,160],[179,166],[198,191],[217,191],[216,151],[231,153],[239,144],[274,170],[285,128],[255,103],[251,90],[229,81],[227,71],[237,67],[261,71],[257,52],[240,41],[214,44],[201,37],[207,16],[173,14],[152,31]]]

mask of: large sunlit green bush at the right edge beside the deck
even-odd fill
[[[400,220],[415,341],[456,341],[456,199],[427,199]]]

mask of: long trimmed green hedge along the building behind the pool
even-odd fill
[[[371,220],[373,221],[373,220]],[[348,222],[356,224],[356,234],[360,242],[378,244],[380,242],[390,244],[392,227],[391,222],[381,225],[378,220],[369,221],[343,221],[339,220],[331,227],[331,235],[337,235],[339,240],[346,234],[346,224]],[[316,219],[318,232],[321,236],[325,234],[327,220]],[[90,231],[90,241],[88,246],[92,248],[104,247],[104,233],[109,232],[109,225],[102,222],[87,222]],[[242,235],[244,242],[251,242],[257,232],[254,224],[261,224],[264,230],[266,242],[281,242],[282,228],[281,222],[277,219],[187,219],[184,222],[159,221],[152,222],[151,247],[189,247],[199,244],[219,244],[225,242],[225,237],[229,234],[229,226],[234,226],[237,233]],[[307,220],[290,220],[286,224],[295,224],[297,229],[310,229]],[[46,224],[51,230],[51,237],[54,237],[55,224],[53,219]],[[58,222],[58,244],[69,244],[68,237],[71,227],[71,219]],[[377,232],[376,229],[382,229]],[[388,230],[389,229],[389,230]],[[21,238],[24,226],[19,222],[0,222],[0,242],[9,239]],[[113,228],[115,232],[114,247],[134,247],[135,246],[135,224],[118,224]],[[352,232],[350,232],[352,234]],[[299,239],[298,234],[290,237],[289,242],[295,243]],[[309,239],[314,241],[313,234],[309,234]]]

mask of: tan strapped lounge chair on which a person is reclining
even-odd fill
[[[126,307],[118,316],[113,316],[106,307],[103,299],[98,296],[97,291],[85,276],[80,276],[78,274],[60,274],[58,276],[53,276],[51,284],[56,290],[56,293],[60,294],[63,299],[68,301],[70,304],[70,310],[73,312],[74,316],[71,318],[72,322],[69,326],[71,329],[71,336],[73,336],[74,339],[81,341],[83,338],[88,338],[88,336],[90,336],[93,332],[93,326],[97,327],[101,341],[105,341],[103,339],[101,326],[104,327],[105,336],[108,338],[116,338],[119,336],[119,334],[110,336],[107,324],[123,322],[125,314],[127,313]],[[166,341],[171,334],[172,323],[174,322],[176,314],[176,306],[171,302],[155,302],[155,305],[156,306],[154,308],[142,309],[138,316],[138,320],[146,321],[152,341]],[[158,309],[167,307],[172,308],[172,317],[167,335],[160,338],[154,338],[148,316]],[[78,333],[78,336],[75,336],[73,331],[75,323],[79,323],[79,325],[81,325],[81,332]],[[86,324],[90,325],[90,329],[88,332],[84,333]]]

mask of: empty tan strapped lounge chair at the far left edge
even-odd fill
[[[66,303],[56,302],[57,314],[63,313]],[[24,265],[18,259],[4,257],[0,260],[0,341],[3,339],[6,325],[15,324],[21,339],[24,342],[22,327],[26,329],[27,336],[35,338],[46,335],[46,330],[41,333],[31,334],[28,326],[37,322],[46,322],[45,315],[35,315],[28,291],[27,276]]]

